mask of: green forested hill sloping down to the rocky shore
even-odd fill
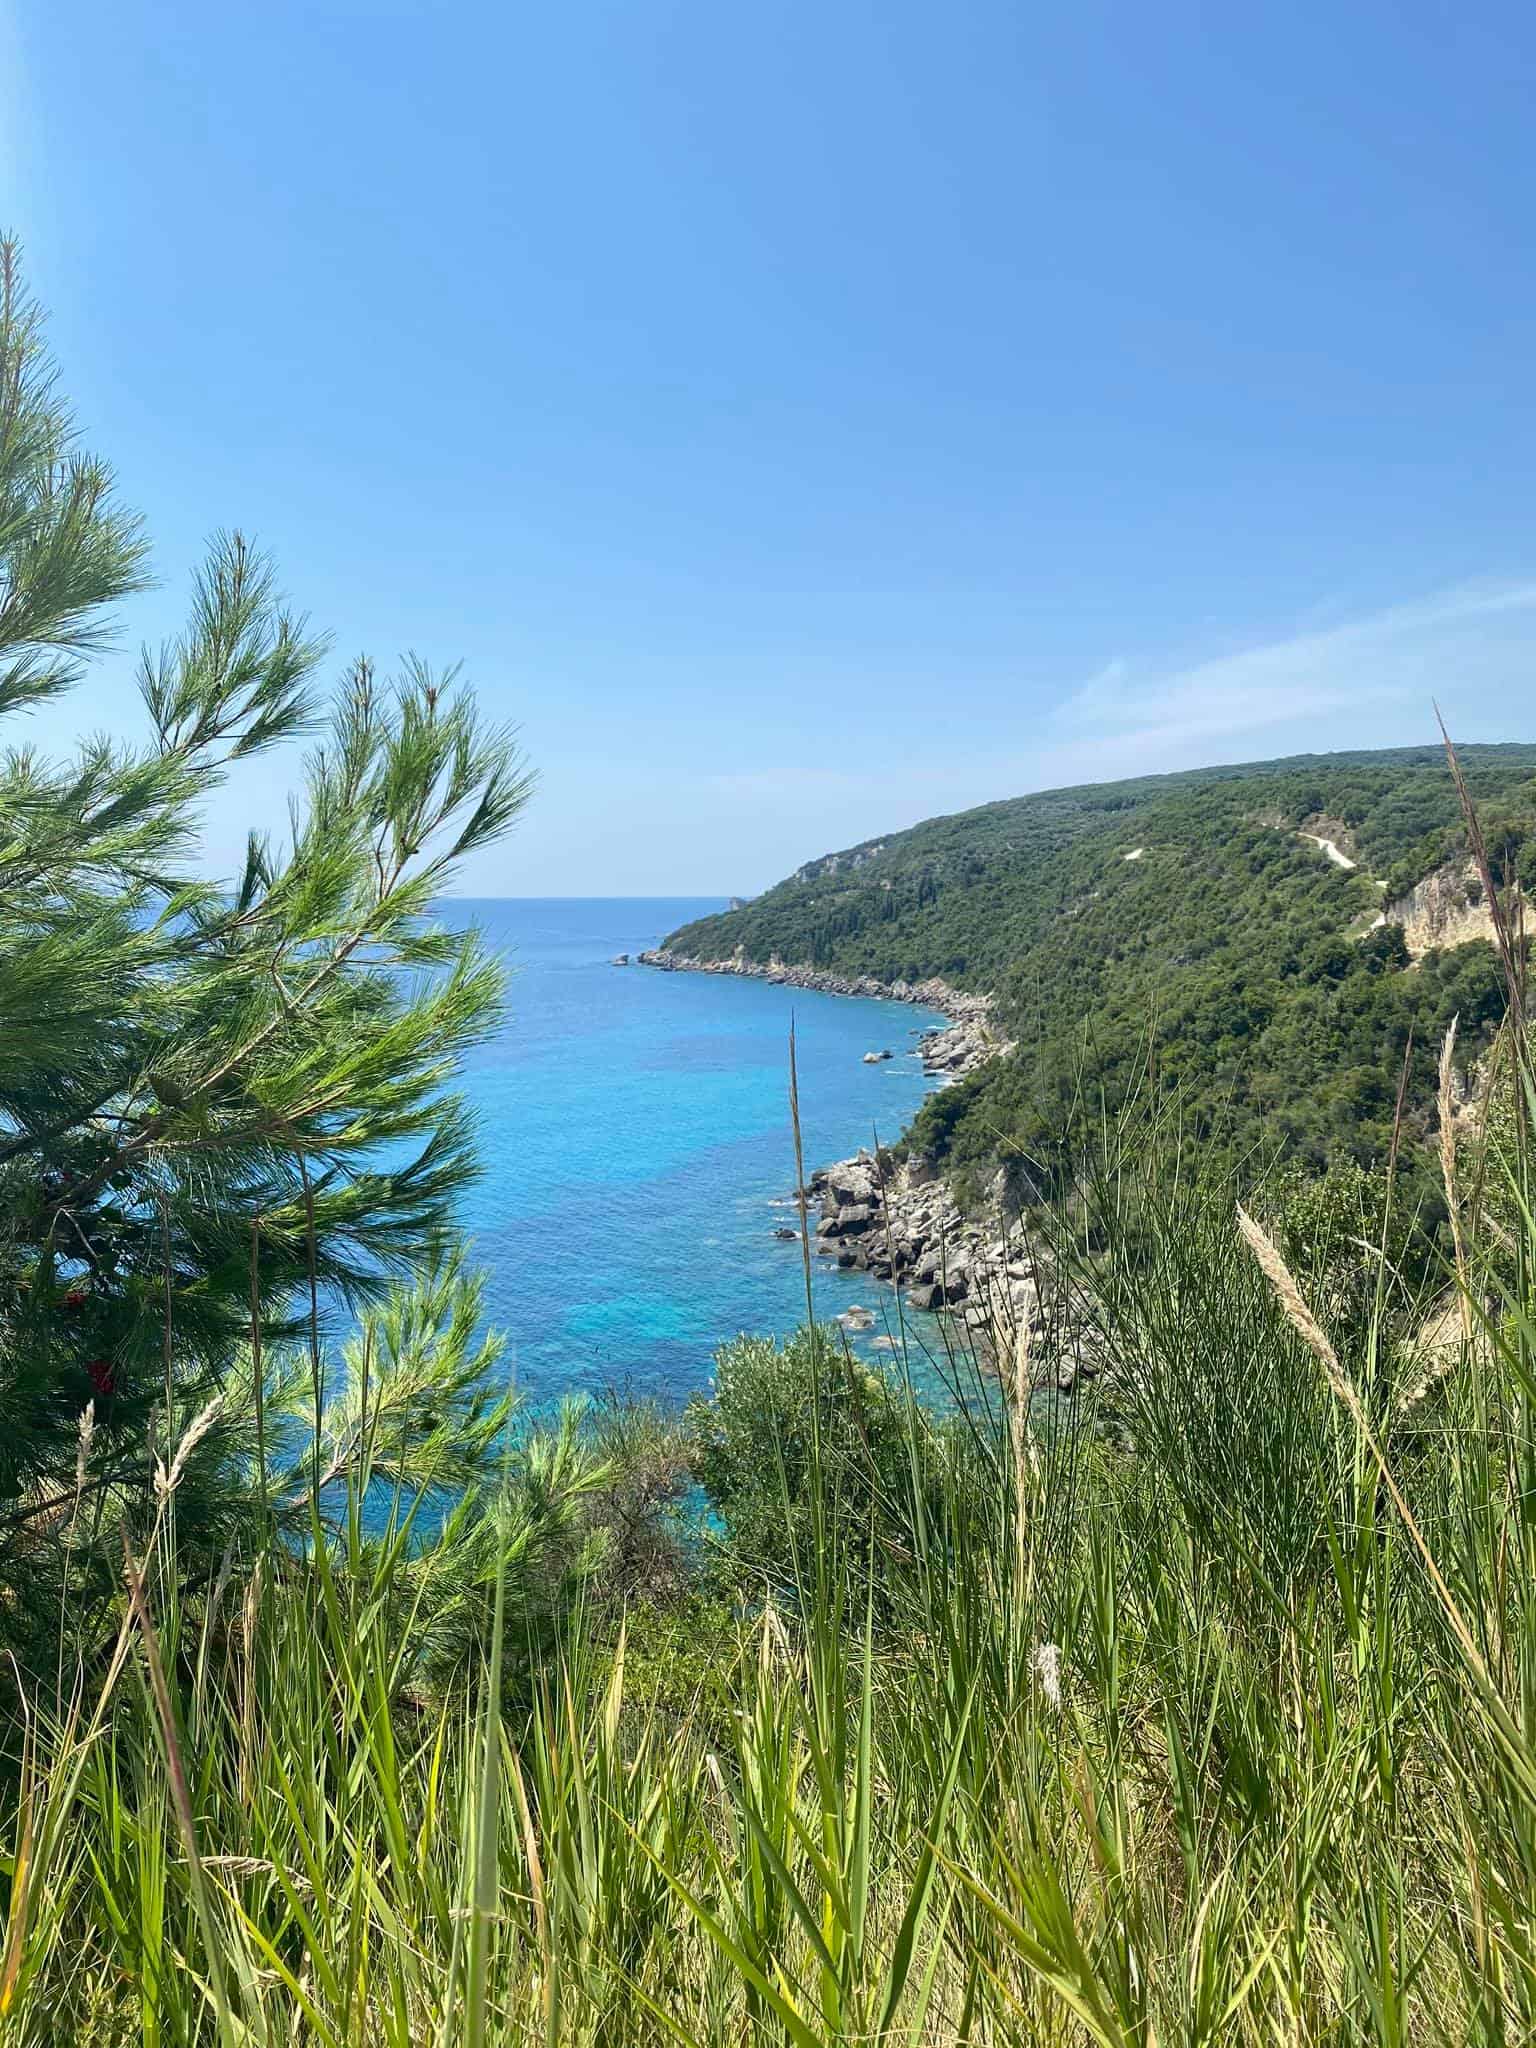
[[[1497,879],[1530,893],[1536,745],[1460,762]],[[920,1137],[963,1178],[999,1151],[1051,1178],[1083,1079],[1114,1102],[1149,1053],[1212,1139],[1378,1161],[1409,1036],[1423,1118],[1450,1018],[1468,1063],[1497,1022],[1481,924],[1446,756],[1413,748],[989,803],[811,860],[668,946],[993,993],[1018,1053],[936,1096]]]

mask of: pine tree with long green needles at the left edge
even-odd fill
[[[473,1174],[453,1071],[496,1022],[500,973],[473,932],[428,911],[530,786],[510,733],[477,715],[455,672],[412,657],[385,684],[358,659],[328,696],[324,641],[240,535],[213,541],[180,639],[139,662],[143,743],[92,737],[68,760],[41,758],[25,743],[25,713],[80,680],[109,645],[113,606],[143,580],[139,522],[78,442],[6,244],[0,1604],[10,1640],[29,1616],[57,1622],[61,1583],[84,1593],[84,1567],[59,1577],[82,1520],[94,1569],[109,1571],[113,1524],[131,1530],[152,1511],[156,1466],[164,1485],[190,1417],[203,1427],[178,1491],[188,1571],[252,1518],[285,1511],[295,1473],[319,1477],[303,1444],[313,1430],[336,1442],[322,1307],[365,1307],[453,1257],[455,1198]],[[231,764],[303,733],[313,737],[287,827],[254,831],[233,881],[199,879],[201,809]],[[303,1425],[291,1413],[295,1356]],[[451,1399],[475,1411],[483,1452],[494,1436],[483,1399],[463,1372],[455,1380],[457,1366],[444,1370]]]

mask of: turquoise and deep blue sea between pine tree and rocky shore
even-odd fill
[[[807,1169],[895,1139],[932,1085],[909,1004],[725,975],[614,967],[723,897],[444,905],[512,969],[510,1016],[467,1063],[485,1174],[463,1202],[487,1315],[532,1403],[623,1386],[684,1401],[741,1329],[805,1321],[795,1223],[788,1030]],[[895,1059],[866,1067],[889,1047]],[[817,1315],[891,1290],[817,1260]]]

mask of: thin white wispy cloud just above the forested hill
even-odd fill
[[[1114,745],[1217,741],[1268,727],[1442,700],[1462,688],[1528,688],[1536,582],[1464,584],[1325,631],[1171,672],[1108,662],[1061,705],[1055,727]]]

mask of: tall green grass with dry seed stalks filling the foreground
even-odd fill
[[[821,1552],[752,1581],[692,1706],[637,1657],[645,1602],[518,1645],[500,1579],[473,1679],[426,1690],[430,1569],[356,1511],[180,1608],[168,1475],[104,1663],[16,1698],[0,2040],[1536,2038],[1505,1055],[1444,1149],[1444,1290],[1380,1286],[1354,1350],[1229,1188],[1116,1155],[1053,1262],[1116,1427],[1026,1425],[1004,1372],[944,1430],[907,1409],[879,1501],[813,1442],[827,1497],[784,1518]]]

